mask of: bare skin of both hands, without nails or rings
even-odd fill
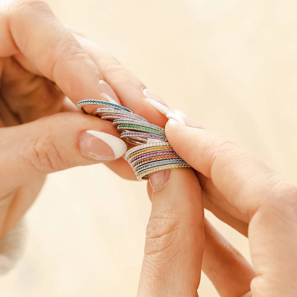
[[[103,99],[98,79],[151,123],[164,127],[166,118],[145,102],[143,83],[65,28],[47,4],[0,7],[0,32],[1,238],[33,203],[46,174],[100,162],[80,153],[82,131],[119,136],[110,122],[75,108],[81,99]],[[295,296],[296,186],[205,129],[170,120],[166,135],[196,171],[172,170],[159,191],[148,185],[152,211],[138,296],[198,296],[201,269],[223,297]],[[122,158],[106,165],[135,179]],[[204,208],[249,237],[253,267],[204,219]]]

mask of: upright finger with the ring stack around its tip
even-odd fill
[[[153,186],[138,296],[198,296],[204,249],[201,189],[192,170],[164,174],[167,184]]]

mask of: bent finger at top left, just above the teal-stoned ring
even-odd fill
[[[75,104],[85,98],[103,98],[97,65],[47,4],[13,2],[0,15],[0,28],[0,56],[22,53]]]

